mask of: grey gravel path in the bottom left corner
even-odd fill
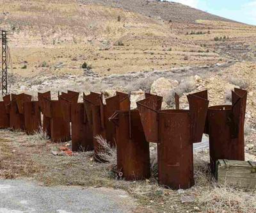
[[[26,180],[0,180],[0,213],[132,212],[124,191],[106,188],[43,187]]]

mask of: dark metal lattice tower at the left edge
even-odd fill
[[[7,38],[6,31],[2,31],[2,95],[8,95],[7,87]]]

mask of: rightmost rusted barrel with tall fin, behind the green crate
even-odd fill
[[[244,161],[244,117],[247,91],[235,88],[232,105],[208,109],[207,130],[212,173],[218,159]]]

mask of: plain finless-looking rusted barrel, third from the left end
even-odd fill
[[[26,134],[35,134],[41,128],[41,113],[38,101],[24,102]]]

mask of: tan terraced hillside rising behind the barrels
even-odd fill
[[[0,28],[9,33],[14,73],[83,75],[81,65],[86,62],[92,68],[90,75],[106,76],[255,60],[254,26],[224,22],[182,4],[148,1],[146,6],[142,0],[129,5],[129,1],[118,1],[129,6],[128,11],[114,8],[112,3],[116,2],[1,3]],[[140,7],[141,13],[132,12],[132,8]],[[157,7],[163,11],[155,10]],[[166,15],[166,20],[142,15],[151,13],[147,8],[153,8],[154,16]],[[172,22],[168,20],[170,14],[176,17]],[[183,21],[185,17],[191,19]],[[214,41],[216,37],[223,40]]]

